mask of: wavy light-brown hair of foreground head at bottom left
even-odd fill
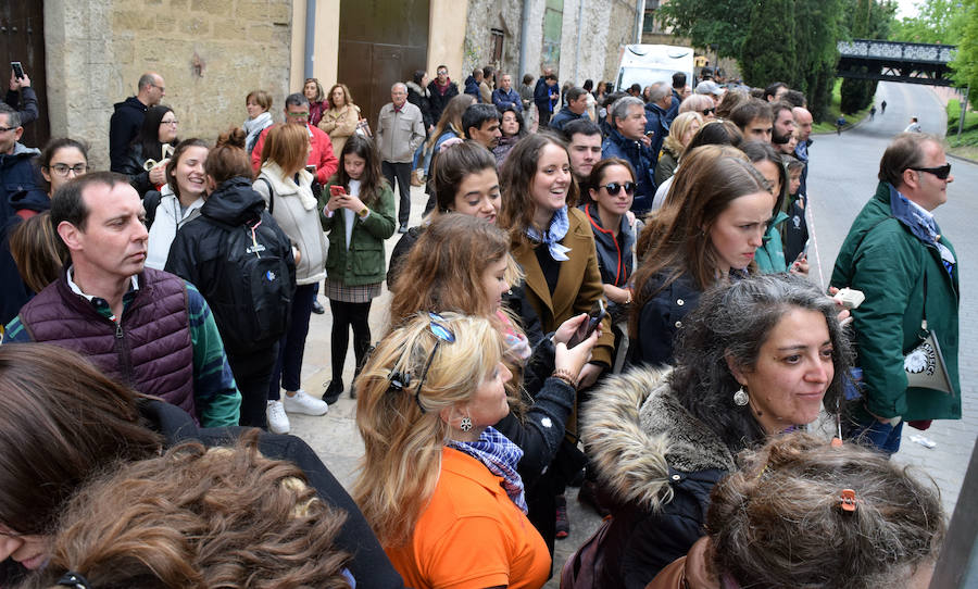
[[[334,546],[346,514],[258,440],[252,429],[234,449],[189,442],[93,480],[28,586],[72,571],[106,589],[350,587],[350,555]]]

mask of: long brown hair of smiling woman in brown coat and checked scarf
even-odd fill
[[[503,198],[498,223],[510,233],[510,241],[513,245],[525,243],[526,230],[534,226],[534,217],[537,214],[537,203],[532,199],[534,178],[537,175],[540,153],[547,146],[556,146],[567,153],[567,143],[561,137],[547,131],[537,133],[521,139],[506,155],[506,161],[500,170]],[[567,162],[570,162],[569,153]],[[568,209],[577,204],[579,192],[573,174],[569,181]],[[537,229],[542,233],[547,228],[537,227]]]

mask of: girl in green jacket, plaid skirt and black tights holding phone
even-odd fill
[[[323,198],[323,229],[329,233],[326,297],[333,311],[333,380],[323,400],[334,403],[343,392],[343,363],[350,327],[359,373],[371,346],[371,301],[380,294],[387,273],[384,240],[393,235],[393,191],[380,174],[380,159],[368,138],[352,135],[340,152],[336,184]],[[352,396],[352,391],[351,391]]]

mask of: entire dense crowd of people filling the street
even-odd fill
[[[150,72],[106,172],[0,104],[0,586],[925,587],[944,514],[887,459],[961,416],[940,140],[887,149],[824,292],[804,96],[688,82],[309,78],[212,145]],[[928,325],[956,394],[903,369]],[[343,392],[350,494],[288,435]],[[610,517],[555,572],[570,486]]]

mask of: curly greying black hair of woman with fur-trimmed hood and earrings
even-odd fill
[[[712,429],[728,448],[738,451],[766,437],[750,405],[737,406],[731,396],[740,385],[728,360],[751,369],[772,329],[794,309],[825,316],[832,346],[835,374],[823,403],[831,414],[841,411],[842,384],[851,351],[839,326],[832,300],[806,278],[767,274],[743,278],[703,293],[679,331],[672,389],[693,416]]]

